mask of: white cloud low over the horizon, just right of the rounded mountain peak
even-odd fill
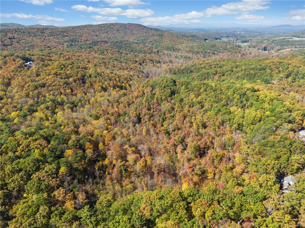
[[[204,16],[203,12],[192,11],[186,14],[176,14],[172,17],[165,16],[165,17],[142,18],[140,21],[144,25],[160,25],[162,23],[199,23],[201,21],[198,19],[194,19],[194,20],[189,20],[189,19],[201,18],[203,16]]]

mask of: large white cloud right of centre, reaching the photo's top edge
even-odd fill
[[[221,6],[212,6],[207,8],[203,12],[206,14],[206,17],[211,17],[212,15],[232,15],[239,14],[241,12],[253,12],[257,10],[269,9],[269,6],[264,6],[268,4],[269,1],[252,1],[252,0],[243,0],[241,2],[229,2]]]

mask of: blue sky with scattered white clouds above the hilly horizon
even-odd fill
[[[1,22],[72,26],[100,23],[304,24],[304,1],[1,0]]]

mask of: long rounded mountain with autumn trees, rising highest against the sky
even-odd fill
[[[2,29],[2,49],[34,50],[37,48],[103,47],[132,53],[157,53],[183,50],[188,53],[239,53],[233,44],[202,42],[201,36],[177,34],[140,24],[109,23],[71,26],[56,29]]]

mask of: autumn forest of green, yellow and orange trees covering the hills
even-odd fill
[[[1,33],[1,227],[305,227],[302,51],[135,24]]]

